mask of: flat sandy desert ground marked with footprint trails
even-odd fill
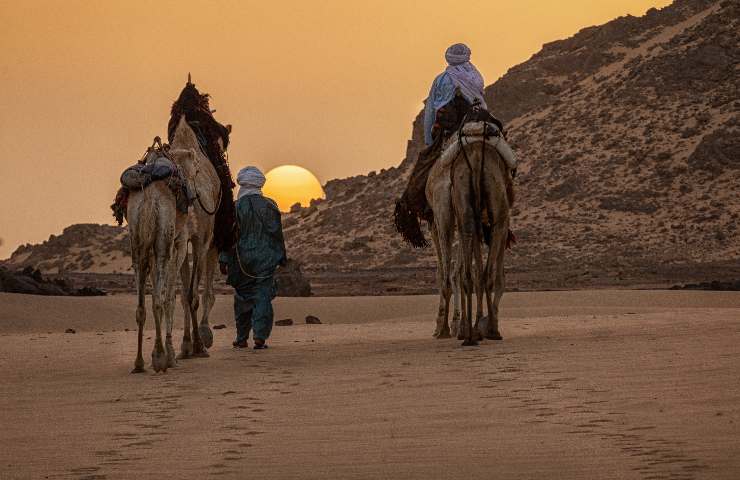
[[[510,293],[466,348],[435,300],[278,299],[324,324],[255,352],[220,297],[210,358],[130,375],[132,296],[0,294],[0,478],[740,477],[740,293]]]

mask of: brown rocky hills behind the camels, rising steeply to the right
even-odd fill
[[[520,157],[511,285],[740,277],[738,31],[739,2],[677,0],[546,44],[487,87]],[[367,293],[408,292],[417,277],[431,288],[433,251],[392,227],[421,139],[418,116],[399,166],[332,180],[325,200],[284,216],[310,275],[375,285]],[[122,229],[75,225],[5,263],[122,272],[127,250]]]

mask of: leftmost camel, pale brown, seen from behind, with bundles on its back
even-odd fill
[[[158,141],[158,138],[155,142]],[[193,150],[170,150],[169,158],[187,176],[193,176]],[[156,161],[159,154],[153,148],[147,153],[146,163]],[[138,304],[138,349],[134,369],[141,373],[144,368],[142,343],[146,322],[146,283],[151,276],[152,311],[156,338],[152,351],[152,368],[155,372],[166,371],[175,366],[175,351],[172,346],[174,323],[175,278],[182,265],[186,246],[181,238],[187,223],[187,215],[176,208],[175,194],[164,181],[156,181],[141,190],[132,190],[128,198],[126,220],[131,242],[131,259],[136,279]],[[162,318],[166,323],[165,341],[162,342]]]

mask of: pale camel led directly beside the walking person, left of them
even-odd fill
[[[180,279],[183,286],[180,300],[185,312],[180,358],[207,357],[207,348],[213,343],[213,333],[208,324],[208,316],[216,300],[213,294],[213,280],[218,262],[218,251],[213,244],[213,232],[214,215],[222,200],[221,182],[216,169],[203,152],[195,132],[188,125],[184,115],[180,117],[170,145],[173,150],[182,149],[193,152],[193,175],[188,178],[188,181],[197,195],[196,201],[190,208],[183,235],[178,239],[180,242],[178,248],[187,249],[188,243],[192,246],[192,267],[186,258],[180,268]],[[220,145],[223,149],[223,144]],[[202,295],[203,315],[198,325],[198,290],[203,274],[205,274]]]

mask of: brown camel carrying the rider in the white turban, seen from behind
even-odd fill
[[[432,240],[437,252],[439,309],[434,336],[446,338],[450,297],[453,296],[453,332],[463,345],[476,345],[483,316],[485,294],[488,322],[483,336],[500,340],[498,308],[504,292],[504,253],[509,231],[511,205],[509,169],[496,149],[499,137],[485,122],[471,122],[448,141],[432,167],[426,196],[434,213]],[[483,222],[491,225],[490,243],[483,238]],[[457,233],[453,264],[453,241]],[[482,249],[488,255],[483,263]],[[472,294],[476,291],[477,312],[472,324]],[[493,299],[492,297],[493,293]],[[459,312],[459,313],[458,313]],[[457,321],[459,319],[459,328]]]

